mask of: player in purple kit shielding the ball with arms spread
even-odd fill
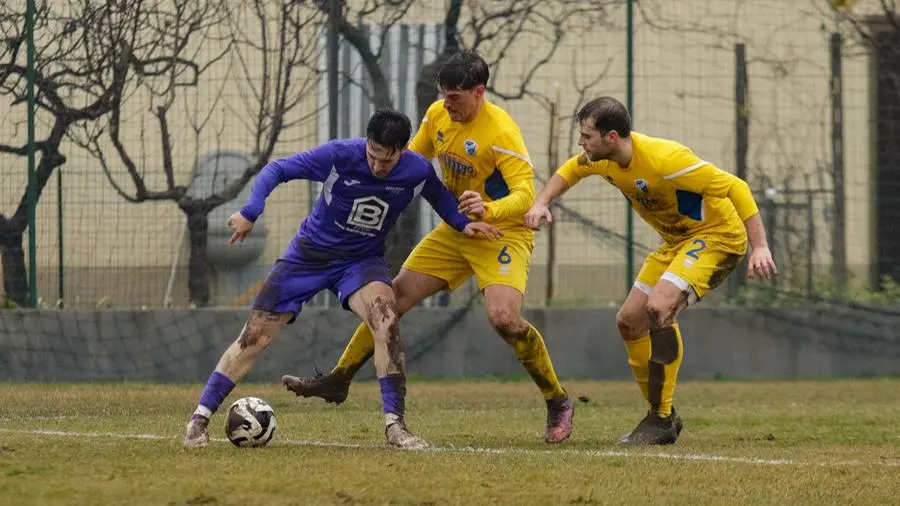
[[[375,335],[375,370],[381,386],[385,436],[392,446],[423,449],[404,420],[406,364],[398,332],[396,297],[384,261],[385,237],[400,213],[422,195],[441,218],[468,238],[492,239],[500,231],[457,210],[456,197],[431,163],[406,149],[412,127],[404,114],[376,112],[365,139],[335,140],[276,160],[257,177],[250,199],[228,220],[231,242],[243,240],[263,213],[266,197],[281,183],[324,183],[312,213],[272,268],[247,323],[219,360],[187,424],[184,446],[209,443],[209,419],[246,376],[280,328],[324,289],[340,299]]]

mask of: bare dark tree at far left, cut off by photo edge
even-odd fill
[[[120,100],[132,66],[145,60],[134,47],[140,15],[135,1],[41,2],[35,13],[35,99],[41,139],[36,167],[36,190],[41,192],[54,169],[66,162],[61,145],[74,127],[96,121]],[[26,102],[25,22],[21,4],[0,4],[0,96],[11,108]],[[113,22],[115,20],[115,22]],[[16,123],[25,123],[25,114]],[[0,144],[0,153],[26,156],[19,140]],[[0,214],[0,256],[7,297],[27,304],[28,279],[22,238],[28,227],[28,197],[23,192],[13,214]]]

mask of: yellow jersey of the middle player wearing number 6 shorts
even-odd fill
[[[409,149],[429,160],[437,157],[444,184],[457,197],[466,190],[480,193],[485,222],[519,227],[533,237],[524,217],[534,203],[534,168],[519,125],[506,111],[485,100],[475,119],[458,123],[438,100]]]

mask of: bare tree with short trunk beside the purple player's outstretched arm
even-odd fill
[[[155,151],[159,153],[158,162],[150,163],[158,163],[158,170],[164,174],[164,186],[150,188],[149,175],[139,168],[148,162],[144,146],[122,138],[127,120],[123,117],[125,104],[121,101],[115,104],[108,127],[88,135],[83,144],[99,160],[109,183],[126,201],[133,204],[171,201],[185,214],[190,238],[189,298],[196,306],[206,306],[211,301],[208,215],[237,197],[268,163],[279,138],[288,129],[309,119],[296,116],[294,111],[315,91],[318,77],[315,34],[322,16],[316,8],[290,0],[277,3],[254,0],[233,10],[228,7],[234,4],[226,0],[170,2],[179,14],[148,13],[140,33],[148,40],[164,41],[162,44],[172,56],[165,65],[145,72],[135,82],[135,91],[149,96],[152,103],[151,113],[161,144]],[[228,67],[227,77],[204,81],[213,83],[210,86],[215,95],[212,103],[200,110],[194,102],[201,76],[217,64]],[[226,87],[238,90],[239,104],[223,100]],[[173,131],[172,122],[179,115],[185,115],[189,131]],[[208,137],[210,131],[216,136],[216,144],[221,144],[225,121],[240,122],[250,133],[248,151],[252,162],[224,189],[211,195],[194,195],[190,181],[179,181],[178,174],[191,173],[190,167],[200,158],[203,137]],[[127,125],[128,128],[137,126]],[[113,174],[112,162],[102,149],[98,134],[106,134],[112,141],[116,159],[127,170],[127,183]],[[181,167],[182,170],[176,167],[174,150],[178,143],[192,146],[194,151],[190,167]]]

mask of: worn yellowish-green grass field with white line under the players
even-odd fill
[[[0,504],[897,504],[900,380],[679,385],[674,446],[622,449],[631,383],[570,382],[575,433],[542,441],[527,382],[411,381],[410,428],[384,446],[376,384],[340,407],[239,385],[275,408],[259,449],[181,448],[199,385],[0,385]]]

